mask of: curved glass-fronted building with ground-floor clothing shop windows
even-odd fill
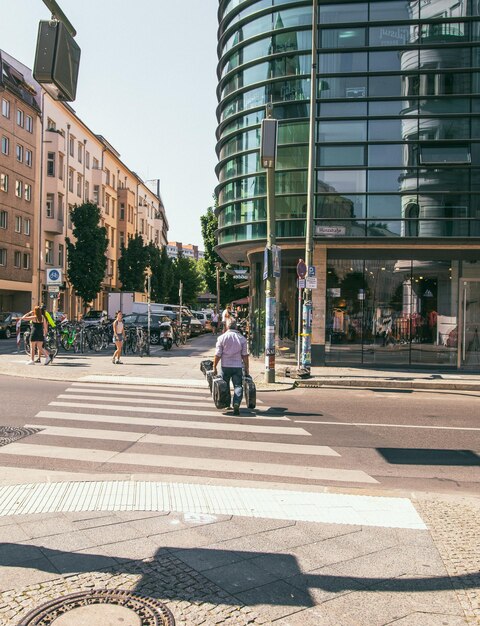
[[[251,266],[257,352],[269,102],[280,338],[298,323],[312,1],[219,4],[218,251]],[[313,363],[480,369],[480,2],[320,0],[318,20]]]

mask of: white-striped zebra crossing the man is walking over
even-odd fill
[[[40,432],[0,447],[0,463],[67,471],[152,472],[230,480],[357,483],[303,425],[259,403],[240,418],[217,411],[208,389],[75,382],[29,427]]]

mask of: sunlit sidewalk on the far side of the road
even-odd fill
[[[92,380],[90,377],[121,377],[127,382],[135,378],[136,384],[194,384],[202,386],[204,377],[199,369],[202,359],[213,358],[215,338],[204,335],[195,338],[180,348],[165,352],[154,348],[150,357],[126,356],[124,365],[113,365],[112,350],[99,354],[70,354],[60,351],[52,365],[44,367],[27,366],[25,354],[0,355],[0,375],[37,378],[45,380],[79,381]],[[312,367],[311,378],[293,380],[285,377],[287,367],[295,367],[293,359],[282,356],[276,362],[276,383],[264,382],[265,364],[263,358],[251,358],[250,369],[260,391],[281,391],[298,387],[374,387],[403,389],[456,389],[480,391],[480,373],[466,373],[452,370],[417,371],[387,370],[354,367]],[[177,382],[179,384],[179,382]]]

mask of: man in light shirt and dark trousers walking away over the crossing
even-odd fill
[[[243,370],[248,375],[249,359],[248,344],[245,337],[238,332],[237,322],[227,320],[227,329],[217,339],[213,359],[213,373],[217,375],[218,364],[222,367],[222,378],[230,386],[233,382],[233,414],[240,415],[240,404],[243,398]]]

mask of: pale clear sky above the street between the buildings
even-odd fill
[[[71,106],[144,180],[160,179],[169,240],[203,247],[213,204],[218,0],[57,0],[81,48]],[[33,67],[42,0],[0,0],[0,49]]]

